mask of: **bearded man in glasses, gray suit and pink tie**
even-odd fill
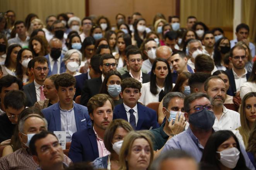
[[[37,101],[44,100],[43,93],[43,84],[46,79],[49,68],[48,62],[45,57],[36,57],[32,63],[31,68],[32,73],[34,74],[34,81],[26,84],[23,89],[24,93],[27,96],[27,106],[34,106]]]

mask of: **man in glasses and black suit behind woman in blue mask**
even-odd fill
[[[95,94],[99,93],[101,84],[105,78],[105,75],[109,70],[116,70],[116,59],[112,54],[102,54],[100,58],[99,69],[102,71],[102,74],[98,78],[87,79],[84,82],[84,88],[81,93],[80,104],[86,106],[89,99]]]

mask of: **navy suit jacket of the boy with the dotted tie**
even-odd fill
[[[138,107],[138,123],[136,125],[135,130],[149,130],[159,128],[159,124],[157,123],[157,113],[142,104],[137,104]],[[128,121],[127,114],[125,111],[125,106],[123,104],[118,104],[114,108],[114,119],[124,119]]]

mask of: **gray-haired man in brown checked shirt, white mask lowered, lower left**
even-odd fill
[[[29,151],[29,142],[36,133],[47,130],[47,121],[41,116],[42,113],[37,108],[27,108],[22,113],[24,112],[28,115],[19,121],[18,135],[21,148],[0,159],[0,167],[4,170],[35,170],[39,168]],[[63,162],[68,165],[71,160],[65,155]]]

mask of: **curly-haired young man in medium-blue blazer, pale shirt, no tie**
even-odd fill
[[[66,141],[73,133],[90,128],[92,122],[87,108],[73,102],[75,78],[67,73],[60,74],[54,82],[59,102],[42,110],[49,131],[66,131]]]

